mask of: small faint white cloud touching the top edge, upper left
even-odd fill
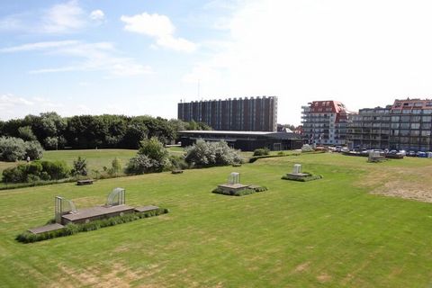
[[[85,11],[76,0],[56,4],[42,18],[42,29],[49,33],[74,31],[85,27]]]

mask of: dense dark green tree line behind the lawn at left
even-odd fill
[[[38,140],[45,149],[139,148],[141,140],[152,137],[168,144],[176,139],[179,130],[211,130],[211,127],[201,122],[166,120],[147,115],[61,117],[56,112],[0,121],[0,137]]]

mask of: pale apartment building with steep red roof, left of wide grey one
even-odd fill
[[[302,106],[302,138],[305,143],[344,145],[347,108],[338,101],[314,101]]]

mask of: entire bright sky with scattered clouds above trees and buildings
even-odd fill
[[[2,1],[0,119],[176,117],[176,103],[279,97],[281,123],[432,94],[429,0]]]

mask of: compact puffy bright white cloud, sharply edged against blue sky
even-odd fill
[[[193,52],[196,49],[196,44],[192,41],[174,36],[175,26],[166,15],[147,13],[122,15],[121,21],[126,23],[124,30],[155,38],[157,47],[184,52]]]

